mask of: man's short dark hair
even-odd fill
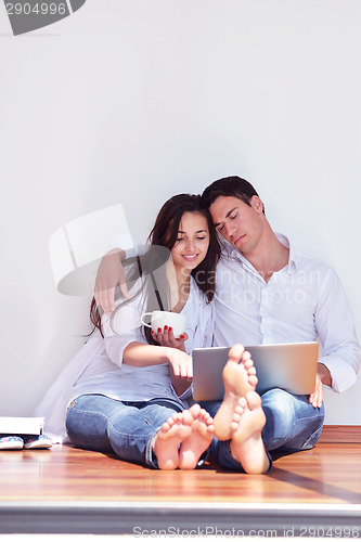
[[[242,199],[245,204],[250,206],[250,199],[253,196],[258,196],[256,190],[250,184],[250,182],[241,177],[223,177],[218,179],[218,181],[212,182],[205,189],[202,194],[202,199],[204,204],[209,208],[210,205],[216,202],[219,196],[233,196]],[[259,196],[258,196],[259,197]],[[265,212],[265,206],[263,206]]]

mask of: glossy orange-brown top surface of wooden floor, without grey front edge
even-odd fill
[[[0,504],[9,501],[361,503],[361,444],[319,443],[278,459],[268,475],[207,465],[159,472],[115,456],[54,446],[0,452]]]

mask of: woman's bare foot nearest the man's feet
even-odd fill
[[[183,440],[179,451],[179,468],[188,470],[197,466],[215,435],[212,417],[206,410],[193,404],[189,412],[193,415],[192,434]]]

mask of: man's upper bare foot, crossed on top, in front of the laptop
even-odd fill
[[[240,397],[255,391],[258,378],[250,353],[242,345],[234,345],[229,351],[223,369],[224,397],[215,416],[215,435],[219,440],[231,438],[231,423]]]

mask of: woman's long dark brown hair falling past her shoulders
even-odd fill
[[[173,248],[178,238],[179,224],[184,212],[198,212],[206,218],[208,223],[209,247],[207,250],[207,255],[204,260],[195,269],[192,270],[191,274],[194,278],[201,292],[204,293],[207,301],[210,302],[215,295],[216,266],[220,258],[221,249],[210,214],[199,195],[178,194],[176,196],[172,196],[163,205],[155,220],[155,224],[147,237],[149,249],[143,256],[131,258],[127,262],[125,262],[125,269],[130,267],[130,273],[128,273],[127,276],[127,284],[134,282],[142,275],[147,278],[150,276],[152,281],[154,281],[153,271],[156,268],[162,268],[162,264],[165,263],[166,260],[170,257],[170,250]],[[168,250],[158,250],[158,247],[165,247],[165,249]],[[165,269],[164,266],[163,269]],[[152,298],[152,301],[147,302],[147,310],[171,310],[167,302],[164,301],[165,299],[167,299],[167,297],[169,297],[165,293],[168,289],[168,281],[166,274],[164,274],[164,280],[157,281],[157,284],[163,289],[162,295],[159,295],[157,287],[149,288],[147,295],[153,291],[156,298],[154,298],[154,293],[152,296],[150,296]],[[137,292],[131,299],[134,299],[138,295],[140,295],[142,289]],[[117,295],[121,297],[119,288],[117,288]],[[115,311],[120,309],[127,302],[129,302],[129,299],[124,298],[124,301],[118,305]],[[115,311],[113,312],[112,318]],[[95,328],[99,328],[101,334],[103,335],[101,326],[101,313],[99,308],[96,307],[94,298],[92,299],[90,306],[90,321],[94,326],[93,331]],[[158,344],[152,338],[151,330],[149,327],[144,326],[143,334],[149,344]]]

